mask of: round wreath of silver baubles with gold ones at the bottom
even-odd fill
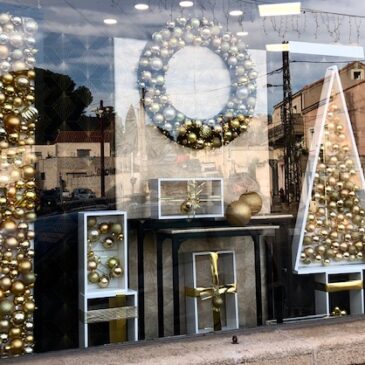
[[[164,135],[183,146],[203,149],[228,144],[247,130],[256,105],[257,72],[242,37],[223,31],[216,21],[181,16],[152,38],[140,57],[138,85],[147,114]],[[230,72],[229,100],[213,118],[189,118],[171,104],[167,95],[169,60],[185,46],[208,47]]]

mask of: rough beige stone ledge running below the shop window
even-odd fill
[[[58,351],[8,359],[3,364],[364,364],[365,319],[335,318],[205,336],[165,338],[132,345]],[[238,344],[231,344],[232,335]]]

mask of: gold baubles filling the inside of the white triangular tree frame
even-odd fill
[[[307,216],[301,260],[305,264],[346,264],[363,260],[365,210],[357,195],[359,171],[352,159],[341,110],[329,107]]]

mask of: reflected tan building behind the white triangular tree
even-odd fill
[[[350,120],[358,145],[362,165],[365,164],[365,136],[361,135],[362,113],[365,109],[365,64],[352,62],[340,70],[340,78],[347,102]],[[292,96],[292,117],[294,132],[298,141],[298,157],[302,175],[306,168],[306,155],[310,148],[321,96],[323,79],[320,79]],[[278,195],[284,188],[284,129],[281,122],[282,102],[274,106],[272,123],[269,125],[269,142],[271,147],[270,165],[272,175],[272,192]]]

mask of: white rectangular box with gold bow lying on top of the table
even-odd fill
[[[189,186],[196,184],[199,208],[191,214],[181,212],[180,206],[189,196]],[[222,178],[159,178],[150,180],[151,215],[158,219],[215,218],[224,216]]]

